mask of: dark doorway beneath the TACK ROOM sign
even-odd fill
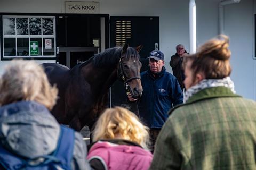
[[[108,22],[108,14],[58,15],[57,62],[71,68],[108,48]]]

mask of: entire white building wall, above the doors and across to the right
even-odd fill
[[[79,0],[82,1],[82,0]],[[254,55],[254,1],[241,0],[225,6],[225,33],[230,36],[232,52],[231,78],[238,94],[256,100],[256,60]],[[1,0],[0,12],[64,13],[64,0]],[[170,57],[177,44],[189,52],[189,0],[99,0],[100,13],[110,16],[159,16],[160,50],[165,54],[165,66],[172,73]],[[196,0],[197,45],[218,35],[220,0]],[[150,28],[149,28],[150,29]],[[42,62],[42,61],[41,61]],[[0,72],[2,65],[0,62]]]

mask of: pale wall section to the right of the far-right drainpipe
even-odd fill
[[[225,7],[224,32],[230,36],[231,78],[238,94],[256,100],[253,0]]]

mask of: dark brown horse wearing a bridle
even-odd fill
[[[51,111],[57,121],[76,131],[85,125],[91,129],[107,108],[109,88],[117,79],[124,82],[133,98],[140,98],[140,49],[141,46],[128,45],[109,48],[71,69],[43,63],[49,82],[59,90],[57,104]]]

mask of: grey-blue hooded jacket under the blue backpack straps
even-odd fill
[[[60,125],[49,110],[34,101],[19,101],[0,108],[0,145],[17,157],[35,159],[51,154]],[[75,132],[72,169],[91,169],[82,136]],[[0,169],[4,169],[0,165]]]

